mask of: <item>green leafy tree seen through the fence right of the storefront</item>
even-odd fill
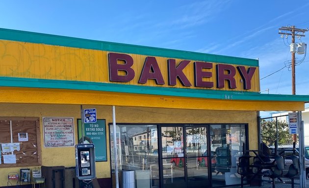
[[[276,120],[262,119],[262,141],[271,146],[276,141]],[[293,144],[292,135],[289,134],[288,123],[286,121],[278,120],[278,145]]]

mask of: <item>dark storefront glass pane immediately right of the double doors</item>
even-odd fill
[[[213,187],[240,184],[238,158],[245,143],[245,125],[210,125]]]

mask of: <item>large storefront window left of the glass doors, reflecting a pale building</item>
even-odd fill
[[[115,171],[113,125],[110,125],[112,171]],[[117,125],[118,170],[134,170],[136,188],[159,185],[156,125]]]

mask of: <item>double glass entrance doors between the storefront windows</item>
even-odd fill
[[[207,127],[162,126],[160,162],[163,188],[205,188],[209,185],[210,151]]]

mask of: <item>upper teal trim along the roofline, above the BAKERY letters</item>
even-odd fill
[[[258,60],[256,59],[213,55],[213,54],[158,48],[158,47],[144,47],[137,45],[121,44],[121,43],[103,42],[89,39],[80,39],[74,37],[58,36],[58,35],[35,33],[28,31],[4,29],[4,28],[0,28],[0,40],[55,45],[62,47],[77,47],[84,49],[113,51],[118,53],[132,53],[132,54],[141,54],[149,56],[159,56],[159,57],[168,57],[177,59],[187,59],[194,61],[207,61],[214,63],[225,63],[233,65],[258,67]]]

